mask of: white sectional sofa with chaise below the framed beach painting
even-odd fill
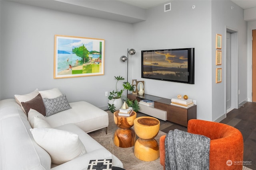
[[[22,111],[22,107],[17,104],[14,99],[1,100],[0,169],[82,170],[88,168],[90,160],[97,159],[112,159],[112,166],[122,168],[123,164],[116,156],[112,155],[86,133],[107,127],[108,113],[87,102],[74,102],[70,103],[70,106],[72,107],[71,109],[61,111],[48,117],[42,115],[35,116],[36,118],[34,117],[34,120],[40,119],[40,121],[46,121],[45,124],[50,127],[35,127],[36,123],[34,121],[34,124],[32,124],[34,126],[33,129],[30,125],[31,118],[29,122],[26,113]],[[30,109],[30,111],[37,112],[33,109]],[[72,137],[78,135],[78,142],[80,142],[80,144],[82,143],[78,149],[83,147],[83,150],[81,149],[78,156],[75,156],[65,163],[52,163],[52,150],[49,151],[48,148],[43,149],[44,145],[41,144],[47,144],[47,147],[50,145],[50,148],[56,147],[56,150],[58,150],[58,147],[65,146],[63,143],[68,140],[60,138],[62,140],[58,141],[58,138],[55,139],[55,135],[52,139],[49,139],[49,141],[47,138],[43,137],[43,141],[39,143],[38,135],[35,136],[35,133],[36,131],[44,131],[45,129],[65,132]],[[40,133],[38,134],[40,135]],[[68,149],[70,148],[67,148],[67,150]],[[48,150],[48,152],[46,150]],[[60,151],[66,151],[66,149]],[[53,152],[57,151],[54,150]],[[64,154],[59,154],[57,157],[62,158],[63,156]]]

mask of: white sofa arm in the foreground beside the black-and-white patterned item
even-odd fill
[[[97,149],[92,152],[83,154],[82,156],[79,156],[79,157],[77,157],[73,160],[70,160],[64,164],[61,164],[54,168],[51,168],[51,170],[87,169],[90,160],[96,160],[96,159],[112,159],[113,160],[113,156],[110,152],[106,152],[105,148]]]

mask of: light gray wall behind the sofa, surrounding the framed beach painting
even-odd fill
[[[58,87],[69,102],[106,107],[114,76],[126,77],[120,56],[127,53],[132,31],[128,23],[1,1],[1,100]],[[105,75],[54,79],[54,35],[105,39]]]

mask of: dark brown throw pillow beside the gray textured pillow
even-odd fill
[[[45,116],[45,106],[41,94],[38,94],[35,98],[27,102],[21,102],[22,107],[28,115],[30,109],[34,109]]]

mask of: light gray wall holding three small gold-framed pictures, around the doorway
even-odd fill
[[[233,9],[231,9],[233,7]],[[212,120],[226,113],[225,42],[226,27],[238,31],[238,104],[247,100],[247,26],[244,10],[231,1],[212,1]],[[215,65],[215,36],[222,35],[222,65]],[[222,82],[215,83],[216,68],[222,68]],[[232,73],[234,76],[234,72]],[[234,77],[233,77],[234,78]],[[236,92],[238,93],[238,92]],[[234,100],[234,98],[232,98]]]

